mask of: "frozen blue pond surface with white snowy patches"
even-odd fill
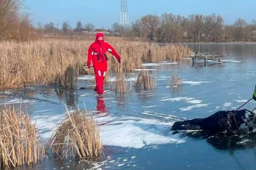
[[[222,137],[191,132],[173,134],[172,124],[181,119],[203,118],[219,110],[235,110],[252,97],[256,77],[256,44],[186,44],[193,51],[224,55],[226,63],[206,65],[184,57],[177,63],[145,64],[157,76],[155,91],[112,93],[110,84],[105,94],[93,91],[91,75],[81,75],[79,86],[85,89],[62,91],[54,87],[5,91],[0,104],[19,106],[37,121],[44,138],[65,114],[64,104],[78,103],[80,108],[98,111],[101,139],[105,146],[102,162],[48,161],[36,169],[255,169],[254,136]],[[127,84],[141,70],[126,74]],[[171,75],[181,76],[182,87],[169,86]],[[110,75],[110,80],[114,75]],[[57,95],[58,94],[58,95]],[[0,107],[1,107],[0,106]],[[256,102],[243,108],[252,110]],[[33,167],[32,169],[35,169]]]

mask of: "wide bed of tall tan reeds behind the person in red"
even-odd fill
[[[61,39],[1,42],[0,88],[23,84],[63,83],[65,70],[72,66],[77,75],[93,74],[93,69],[83,68],[87,62],[87,49],[92,41],[69,41]],[[159,45],[138,41],[109,41],[121,56],[123,71],[142,68],[142,62],[177,61],[188,57],[192,50],[174,44]],[[148,57],[148,50],[151,55]],[[117,72],[118,62],[109,56],[109,72]]]

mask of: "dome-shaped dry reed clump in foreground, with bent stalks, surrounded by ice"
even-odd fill
[[[68,112],[50,137],[49,145],[53,154],[61,159],[69,156],[100,157],[103,147],[99,137],[99,127],[94,122],[92,112],[86,110]]]

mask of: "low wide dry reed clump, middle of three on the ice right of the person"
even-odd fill
[[[138,77],[137,80],[135,82],[135,89],[136,90],[149,90],[149,89],[155,89],[156,88],[156,78],[154,76],[150,76],[148,75],[147,71],[143,71],[141,72]]]

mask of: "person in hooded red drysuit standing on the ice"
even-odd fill
[[[92,43],[88,49],[87,67],[90,68],[92,60],[96,81],[96,87],[94,88],[94,91],[96,91],[98,94],[103,94],[104,92],[103,82],[108,68],[108,58],[106,56],[107,51],[116,57],[118,63],[121,63],[121,58],[116,50],[114,50],[114,48],[109,43],[104,41],[103,33],[97,33],[94,43]]]

